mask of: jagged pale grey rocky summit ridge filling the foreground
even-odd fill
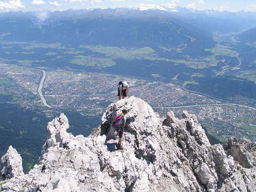
[[[126,108],[124,150],[117,150],[113,118]],[[66,132],[64,114],[47,126],[39,165],[23,173],[9,147],[1,159],[1,191],[21,192],[255,192],[256,144],[230,137],[211,145],[195,115],[160,118],[143,100],[109,105],[90,136]]]

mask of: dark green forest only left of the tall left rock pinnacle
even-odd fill
[[[12,145],[23,159],[24,172],[38,163],[49,119],[38,111],[0,103],[0,156]]]

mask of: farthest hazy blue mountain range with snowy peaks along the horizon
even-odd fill
[[[188,9],[186,7],[139,7],[139,8],[124,8],[116,9],[81,9],[81,10],[63,10],[63,11],[41,11],[41,12],[8,12],[0,13],[1,18],[39,18],[39,20],[56,19],[56,20],[111,20],[111,19],[142,19],[142,18],[177,18],[188,23],[196,25],[206,25],[203,28],[214,30],[212,24],[220,27],[215,30],[228,31],[240,30],[256,27],[256,12],[229,12],[217,10],[196,10]],[[227,26],[225,26],[227,24]],[[222,28],[221,28],[222,27]]]

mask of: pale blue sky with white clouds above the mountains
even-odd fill
[[[256,11],[256,0],[0,0],[0,12],[114,7],[182,6],[198,10]]]

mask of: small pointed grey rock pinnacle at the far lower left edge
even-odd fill
[[[0,181],[24,175],[21,156],[12,146],[10,146],[7,153],[2,156],[0,170]]]

